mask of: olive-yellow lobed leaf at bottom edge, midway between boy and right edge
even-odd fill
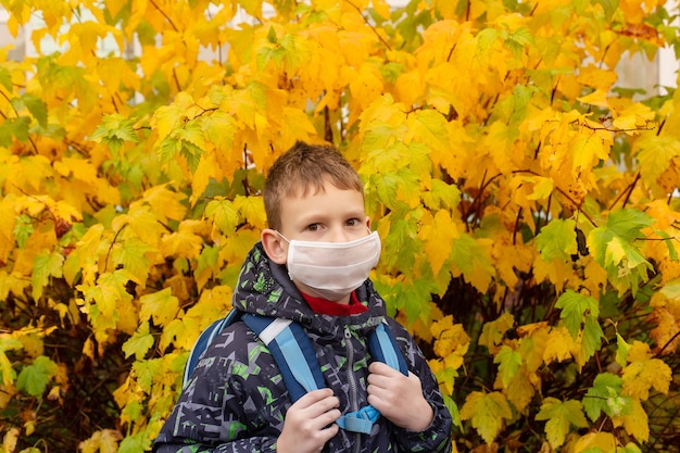
[[[557,449],[565,443],[571,426],[585,428],[588,420],[583,414],[583,406],[579,401],[559,401],[549,397],[543,400],[541,410],[536,415],[537,420],[547,420],[545,424],[545,435],[553,449]]]

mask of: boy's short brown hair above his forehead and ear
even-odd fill
[[[297,141],[272,165],[264,184],[264,210],[269,228],[281,228],[284,197],[323,192],[327,180],[338,189],[364,193],[358,174],[335,147]]]

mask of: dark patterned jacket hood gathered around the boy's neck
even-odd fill
[[[335,330],[332,327],[337,327],[339,318],[353,328],[372,330],[387,316],[385,301],[368,279],[356,289],[356,298],[369,310],[352,316],[314,313],[291,281],[286,266],[269,260],[262,243],[257,242],[239,274],[232,305],[247,313],[292,319],[317,332]]]

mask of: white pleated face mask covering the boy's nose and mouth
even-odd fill
[[[350,242],[288,240],[288,275],[314,295],[338,301],[358,288],[380,257],[380,237],[374,231]]]

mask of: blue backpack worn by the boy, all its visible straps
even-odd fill
[[[290,319],[260,316],[238,310],[231,310],[227,316],[213,322],[201,332],[189,353],[182,387],[187,386],[191,373],[213,340],[227,326],[239,319],[243,320],[269,349],[293,403],[306,392],[326,387],[314,347],[302,326]],[[408,376],[406,361],[387,323],[380,323],[368,337],[368,351],[374,360]],[[348,431],[367,435],[379,417],[380,412],[369,404],[360,411],[341,416],[336,423]]]

